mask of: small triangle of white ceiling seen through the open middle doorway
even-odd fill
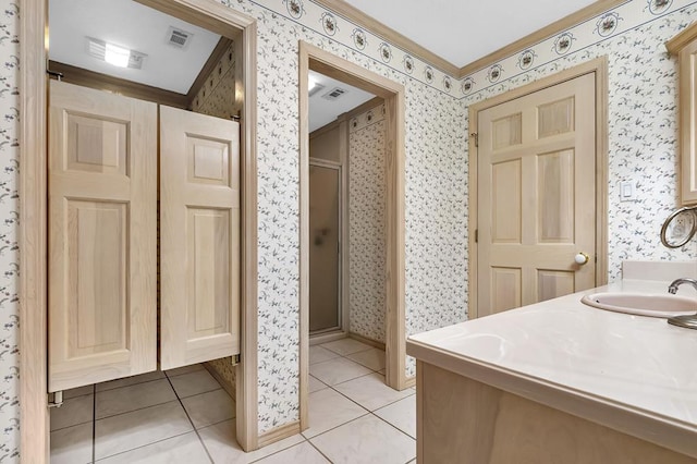
[[[372,94],[353,87],[348,84],[344,84],[343,82],[339,82],[331,77],[327,77],[326,75],[319,74],[315,71],[309,72],[309,77],[310,80],[314,80],[322,86],[322,88],[317,90],[316,93],[310,91],[310,133],[334,121],[339,114],[351,111],[357,106],[375,98],[375,95]],[[330,94],[337,87],[345,90],[344,94],[342,94],[341,97],[335,100],[327,99],[327,94]]]

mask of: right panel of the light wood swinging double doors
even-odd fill
[[[160,363],[240,353],[240,126],[160,107]]]

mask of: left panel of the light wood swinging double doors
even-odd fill
[[[49,391],[157,368],[157,106],[52,81]]]

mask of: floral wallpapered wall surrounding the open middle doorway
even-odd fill
[[[466,138],[461,102],[379,56],[356,49],[353,39],[328,35],[319,22],[323,9],[317,4],[303,2],[305,22],[292,17],[283,0],[228,4],[255,17],[258,28],[258,358],[264,432],[298,418],[298,40],[405,86],[409,333],[465,318]],[[345,20],[338,20],[337,26],[354,28]],[[372,44],[370,37],[368,41]],[[430,223],[439,218],[449,219],[443,227]],[[454,239],[439,242],[445,235]]]

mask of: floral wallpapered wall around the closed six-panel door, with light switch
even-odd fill
[[[563,69],[607,56],[609,62],[609,280],[625,259],[695,259],[697,243],[677,251],[659,232],[677,199],[677,61],[664,42],[697,17],[697,2],[628,1],[466,76],[465,109]],[[563,45],[567,47],[562,47]],[[467,129],[465,134],[475,132]],[[620,202],[620,181],[635,183]]]

